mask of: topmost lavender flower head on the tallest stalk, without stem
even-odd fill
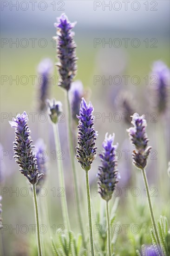
[[[75,23],[70,23],[67,16],[62,14],[54,26],[57,28],[57,36],[54,39],[57,43],[57,56],[59,58],[59,63],[56,66],[61,76],[58,85],[68,91],[77,72],[76,44],[72,32]]]

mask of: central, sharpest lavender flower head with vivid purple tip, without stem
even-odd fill
[[[82,98],[78,121],[78,147],[76,158],[85,171],[91,169],[92,162],[96,155],[95,140],[97,132],[94,129],[94,116],[92,112],[94,108],[92,103],[87,105],[84,98]]]

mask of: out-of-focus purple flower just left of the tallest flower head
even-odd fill
[[[39,63],[39,111],[42,112],[46,109],[46,99],[49,96],[50,75],[52,74],[53,63],[50,59],[44,59]]]

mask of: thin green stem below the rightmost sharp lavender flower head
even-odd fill
[[[152,204],[151,204],[151,200],[150,200],[150,193],[149,193],[149,187],[148,187],[148,180],[147,180],[146,172],[145,172],[144,169],[141,169],[141,170],[142,170],[142,176],[143,176],[143,179],[144,179],[144,185],[145,185],[145,188],[146,188],[146,194],[147,194],[147,198],[148,198],[148,204],[149,204],[149,209],[150,209],[150,217],[151,217],[153,229],[154,229],[154,232],[155,232],[155,235],[156,235],[157,243],[160,244],[159,236],[157,234],[156,222],[155,222],[155,218],[154,218],[154,215],[153,215]]]

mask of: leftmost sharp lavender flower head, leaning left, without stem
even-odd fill
[[[39,174],[37,159],[33,154],[31,131],[27,125],[28,116],[26,112],[18,114],[13,121],[10,121],[11,127],[15,128],[15,142],[13,142],[14,158],[20,166],[20,172],[26,176],[31,184],[36,184],[43,176]]]

